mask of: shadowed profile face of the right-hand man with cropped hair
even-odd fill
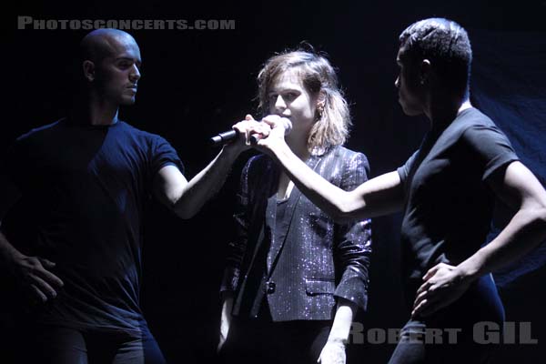
[[[399,104],[406,115],[416,116],[423,113],[423,87],[420,85],[420,66],[418,60],[404,55],[400,47],[396,62],[399,76],[394,85],[399,90]]]

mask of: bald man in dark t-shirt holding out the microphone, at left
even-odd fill
[[[25,252],[0,233],[2,267],[36,301],[32,362],[162,363],[139,308],[147,197],[192,217],[247,147],[244,138],[225,146],[187,182],[164,138],[117,117],[135,103],[135,39],[100,29],[81,50],[84,87],[73,112],[20,136],[0,170],[0,218],[23,198],[37,221]]]

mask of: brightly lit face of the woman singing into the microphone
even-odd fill
[[[318,96],[311,95],[301,83],[298,69],[290,68],[271,83],[268,94],[269,114],[287,117],[292,131],[287,142],[307,142],[315,123]]]

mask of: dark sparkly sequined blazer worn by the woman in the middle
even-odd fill
[[[366,156],[345,147],[311,156],[307,165],[344,190],[358,187],[369,172]],[[278,175],[264,155],[250,158],[243,169],[234,214],[238,233],[228,246],[220,288],[235,293],[232,313],[257,317],[264,298],[273,321],[333,319],[336,298],[366,308],[370,221],[337,224],[294,187],[284,238],[276,241]],[[260,260],[264,244],[261,255],[267,258]]]

